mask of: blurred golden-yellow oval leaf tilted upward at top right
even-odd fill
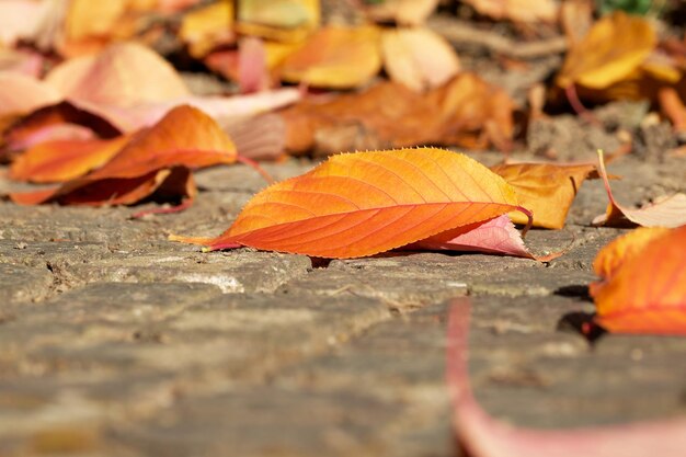
[[[557,84],[605,89],[634,72],[658,43],[643,18],[615,11],[596,22],[568,54]]]

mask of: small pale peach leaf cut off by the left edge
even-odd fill
[[[0,72],[0,116],[26,114],[60,99],[57,90],[35,78],[12,71]]]

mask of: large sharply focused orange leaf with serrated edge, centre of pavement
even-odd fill
[[[356,258],[516,208],[513,188],[467,156],[435,148],[356,152],[260,192],[217,238],[171,239]]]

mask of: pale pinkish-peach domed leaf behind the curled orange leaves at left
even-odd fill
[[[66,99],[130,106],[188,95],[176,70],[144,45],[122,43],[65,61],[45,81]]]

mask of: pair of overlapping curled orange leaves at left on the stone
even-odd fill
[[[85,140],[80,148],[64,141],[42,144],[22,159],[11,169],[15,178],[37,174],[47,181],[65,176],[68,181],[55,188],[11,194],[16,203],[130,205],[153,193],[192,201],[196,190],[190,171],[236,162],[236,147],[214,119],[182,105],[130,137]],[[75,176],[75,165],[82,172],[95,170]]]

